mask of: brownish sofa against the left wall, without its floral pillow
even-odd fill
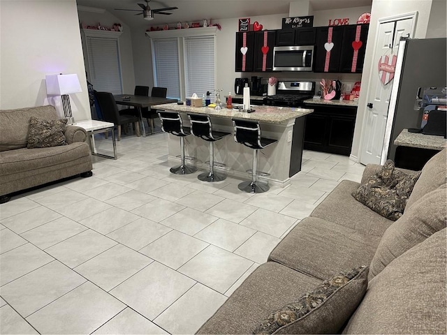
[[[31,117],[59,119],[50,105],[0,110],[0,203],[16,191],[76,174],[91,176],[91,153],[84,128],[66,126],[67,145],[27,149]]]

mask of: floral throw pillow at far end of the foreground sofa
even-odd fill
[[[420,171],[406,174],[396,170],[393,161],[388,160],[382,170],[360,185],[352,196],[381,216],[396,221],[404,213],[419,176]]]

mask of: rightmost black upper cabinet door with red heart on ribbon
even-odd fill
[[[339,72],[362,73],[369,24],[353,24],[343,29]]]

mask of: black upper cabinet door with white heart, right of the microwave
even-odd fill
[[[317,27],[314,72],[339,72],[343,27]]]

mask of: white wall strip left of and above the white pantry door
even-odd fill
[[[358,99],[356,128],[354,129],[353,146],[351,156],[360,160],[363,123],[366,113],[367,98],[369,95],[369,77],[376,70],[376,64],[372,64],[374,56],[374,41],[378,20],[383,17],[392,17],[404,13],[418,12],[416,32],[414,38],[425,38],[430,17],[432,0],[374,0],[371,9],[371,22],[369,24],[368,43],[366,47],[365,62],[362,73],[362,88]],[[445,20],[445,17],[444,17]]]

